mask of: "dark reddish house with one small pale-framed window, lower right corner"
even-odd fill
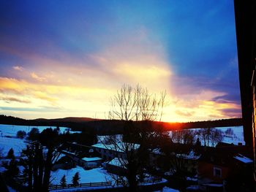
[[[247,156],[247,147],[222,146],[225,147],[206,147],[198,159],[198,184],[203,188],[243,186],[252,179],[249,172],[253,160]]]

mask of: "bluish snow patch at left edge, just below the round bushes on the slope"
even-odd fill
[[[26,148],[25,142],[25,139],[0,137],[0,148],[3,149],[2,155],[6,156],[10,148],[12,148],[14,150],[14,155],[20,156],[22,150]]]

